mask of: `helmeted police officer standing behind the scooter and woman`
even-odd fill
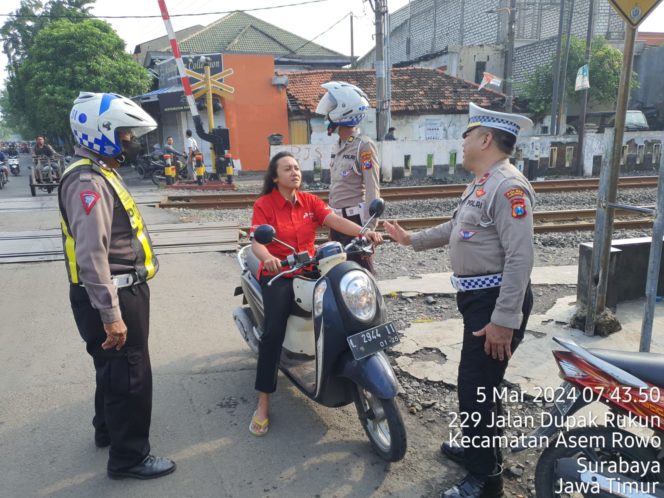
[[[369,109],[369,99],[358,87],[343,81],[321,86],[327,93],[316,113],[328,118],[328,135],[335,130],[339,134],[330,163],[329,205],[336,214],[362,226],[370,218],[371,201],[380,197],[376,144],[357,127]],[[372,220],[369,228],[373,230],[376,222]],[[331,229],[330,239],[346,245],[352,237]],[[371,257],[351,255],[348,259],[373,272]]]

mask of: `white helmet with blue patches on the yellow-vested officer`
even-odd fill
[[[156,121],[138,104],[114,93],[81,92],[71,108],[69,123],[81,147],[105,157],[122,153],[118,131],[140,137],[157,128]]]

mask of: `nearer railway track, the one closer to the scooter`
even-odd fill
[[[652,206],[644,206],[650,207]],[[569,209],[562,211],[536,211],[533,214],[535,233],[559,233],[573,231],[592,231],[595,229],[595,209]],[[617,209],[613,222],[615,229],[634,229],[652,227],[652,218],[644,218],[640,213]],[[406,230],[425,230],[450,220],[450,216],[429,218],[403,218],[396,220]],[[589,221],[590,220],[590,221]],[[249,233],[249,227],[240,229]],[[321,231],[322,233],[322,231]]]

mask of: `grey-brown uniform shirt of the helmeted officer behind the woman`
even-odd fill
[[[380,164],[376,144],[359,128],[337,144],[330,163],[330,198],[333,209],[359,208],[361,219],[369,219],[369,204],[380,197]],[[373,220],[370,228],[375,228]]]

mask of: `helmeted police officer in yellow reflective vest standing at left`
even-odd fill
[[[150,290],[159,268],[143,218],[117,168],[157,123],[120,95],[81,92],[70,124],[78,146],[58,202],[69,298],[96,370],[95,444],[109,448],[108,476],[152,479],[175,463],[150,454]]]

